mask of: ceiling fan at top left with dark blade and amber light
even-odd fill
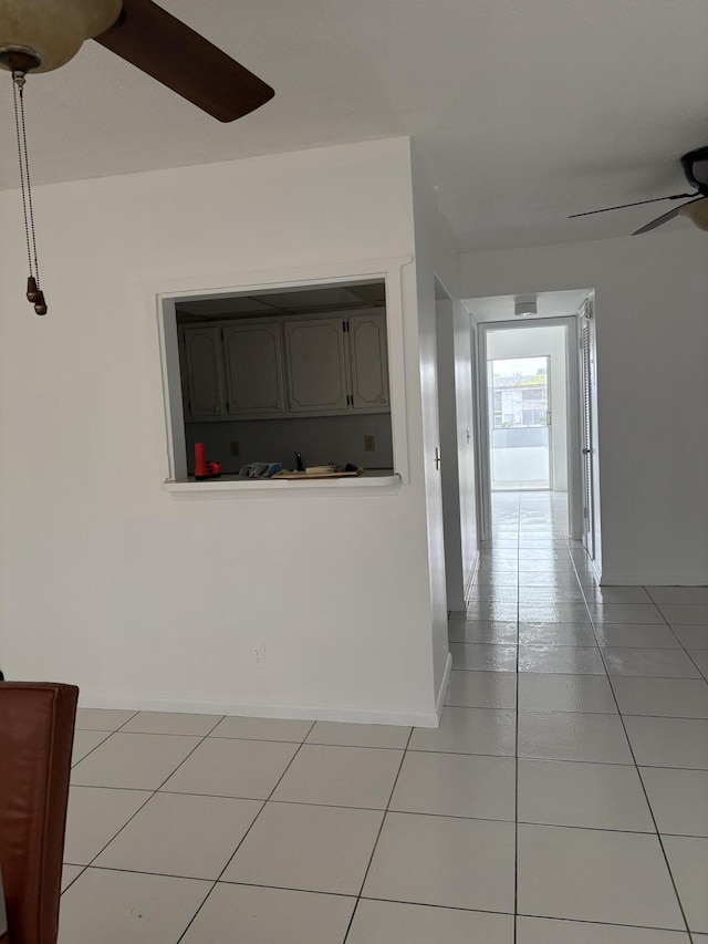
[[[50,72],[94,39],[221,122],[273,90],[152,0],[0,0],[0,68]]]

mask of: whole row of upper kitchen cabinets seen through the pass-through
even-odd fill
[[[388,413],[383,312],[184,326],[187,421]]]

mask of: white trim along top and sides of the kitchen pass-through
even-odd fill
[[[176,468],[175,456],[179,455],[179,436],[184,439],[184,408],[181,387],[169,365],[174,362],[173,325],[175,300],[190,298],[201,300],[217,295],[252,294],[257,292],[285,290],[304,286],[329,286],[340,282],[383,279],[386,284],[386,325],[388,342],[388,369],[391,391],[391,423],[393,434],[394,468],[404,484],[410,480],[408,460],[408,433],[406,422],[406,384],[404,350],[403,270],[413,262],[413,257],[403,256],[364,261],[329,263],[250,272],[232,272],[185,277],[163,282],[146,282],[135,288],[143,295],[146,309],[156,310],[162,385],[165,405],[165,430],[167,449],[166,480],[176,483],[186,476]],[[175,332],[176,333],[176,332]],[[180,422],[181,419],[181,422]],[[177,452],[176,452],[177,450]],[[190,485],[194,488],[196,484]],[[320,492],[317,492],[320,494]]]

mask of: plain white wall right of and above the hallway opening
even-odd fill
[[[596,289],[605,583],[708,583],[707,248],[690,229],[460,259],[464,298]]]

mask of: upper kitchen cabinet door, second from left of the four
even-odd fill
[[[280,324],[223,329],[227,413],[282,416],[285,413]]]

